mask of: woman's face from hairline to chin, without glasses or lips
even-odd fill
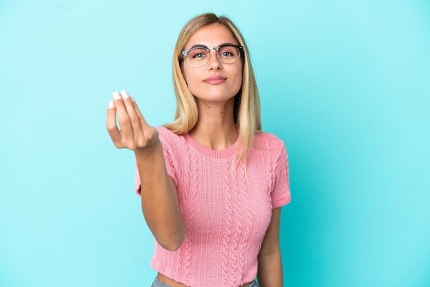
[[[218,47],[223,43],[240,45],[225,25],[214,23],[194,32],[183,50],[194,45]],[[212,49],[209,59],[201,67],[191,66],[183,57],[182,73],[188,89],[199,99],[210,102],[223,102],[234,97],[242,86],[242,56],[233,64],[225,64],[219,60],[215,49]],[[205,81],[212,76],[222,76],[226,80],[221,83]]]

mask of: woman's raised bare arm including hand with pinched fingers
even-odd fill
[[[117,148],[135,151],[146,223],[164,249],[177,250],[183,242],[183,223],[158,130],[148,125],[137,103],[126,91],[121,95],[113,92],[113,100],[109,102],[106,128]],[[116,111],[122,130],[116,124]]]

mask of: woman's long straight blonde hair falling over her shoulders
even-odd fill
[[[181,51],[185,44],[190,40],[192,34],[199,30],[201,27],[219,23],[225,25],[234,35],[239,45],[243,46],[242,51],[242,87],[237,95],[234,97],[234,123],[238,128],[238,148],[234,165],[232,165],[231,172],[236,168],[238,161],[242,160],[245,167],[245,177],[247,178],[247,158],[249,148],[253,146],[254,133],[262,131],[261,117],[260,117],[260,95],[257,89],[256,78],[253,73],[251,61],[249,58],[249,51],[245,39],[240,34],[236,25],[234,25],[226,16],[216,16],[213,13],[205,13],[195,16],[188,23],[185,24],[181,30],[177,43],[174,46],[173,54],[173,85],[174,93],[177,98],[177,107],[174,114],[174,121],[164,124],[166,128],[171,130],[177,135],[188,133],[192,130],[199,118],[199,111],[197,108],[196,98],[190,90],[183,78],[181,71],[182,55]]]

